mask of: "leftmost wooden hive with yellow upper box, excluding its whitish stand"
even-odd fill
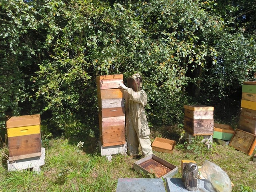
[[[40,115],[14,116],[6,121],[9,161],[41,155]]]

